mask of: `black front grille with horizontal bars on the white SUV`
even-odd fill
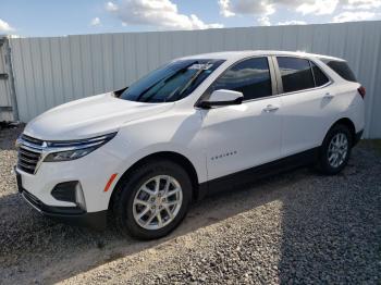
[[[42,144],[42,140],[22,135],[19,145],[17,169],[35,174],[41,158]]]

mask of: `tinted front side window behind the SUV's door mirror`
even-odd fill
[[[230,67],[211,85],[209,94],[219,89],[239,91],[244,100],[271,96],[268,59],[254,58]]]

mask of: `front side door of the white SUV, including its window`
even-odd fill
[[[200,110],[209,181],[280,158],[281,100],[269,66],[267,57],[243,60],[208,89],[244,95],[242,104]]]

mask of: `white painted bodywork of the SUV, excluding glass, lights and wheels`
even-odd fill
[[[275,54],[314,60],[333,83],[237,106],[195,108],[206,88],[232,64],[249,57]],[[118,135],[81,159],[42,162],[34,175],[19,170],[23,186],[47,205],[63,206],[51,196],[51,188],[60,182],[79,181],[87,211],[95,212],[108,209],[112,190],[105,193],[103,188],[109,177],[113,173],[121,177],[152,153],[171,151],[185,157],[194,165],[198,182],[204,183],[319,146],[342,117],[352,120],[359,132],[364,128],[359,85],[341,79],[316,57],[278,51],[204,54],[199,58],[226,61],[180,101],[133,102],[103,94],[51,109],[30,121],[25,135],[42,140],[84,139],[114,132]],[[327,92],[334,95],[329,101],[323,98]]]

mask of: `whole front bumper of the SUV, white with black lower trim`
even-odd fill
[[[124,164],[115,149],[125,149],[124,140],[111,139],[91,153],[62,162],[41,161],[33,173],[15,168],[19,189],[24,199],[37,211],[69,224],[102,230],[112,189],[118,183],[119,169]],[[112,175],[116,179],[108,185]],[[75,197],[63,197],[54,189],[58,185],[77,182],[81,191]],[[105,190],[108,185],[108,190]],[[79,196],[76,194],[79,193]],[[62,194],[62,193],[61,193]],[[67,199],[66,199],[67,198]],[[70,198],[70,199],[69,199]]]

